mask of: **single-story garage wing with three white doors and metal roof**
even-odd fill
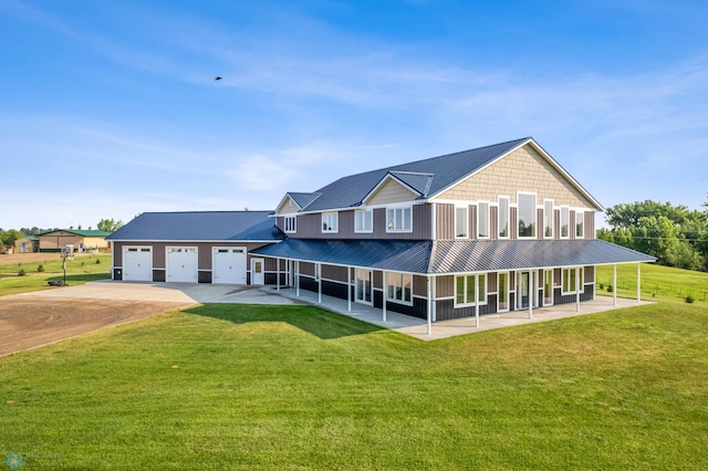
[[[144,212],[107,237],[113,280],[274,284],[275,261],[252,251],[280,242],[272,211]],[[271,266],[272,265],[272,270]]]

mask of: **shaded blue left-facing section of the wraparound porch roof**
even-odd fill
[[[425,273],[433,241],[288,239],[254,250],[267,257]]]

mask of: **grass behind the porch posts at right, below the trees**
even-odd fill
[[[597,266],[595,287],[597,294],[612,296],[607,286],[613,284],[612,266]],[[600,284],[603,289],[600,289]],[[642,299],[645,301],[680,301],[691,295],[694,302],[708,302],[708,273],[643,263],[639,278]],[[617,265],[617,296],[637,296],[637,265]]]

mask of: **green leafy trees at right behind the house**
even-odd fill
[[[652,200],[621,203],[605,210],[611,229],[597,239],[656,257],[657,263],[708,271],[708,201],[706,210]]]

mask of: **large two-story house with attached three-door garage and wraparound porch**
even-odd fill
[[[287,192],[272,213],[144,213],[108,240],[115,280],[292,286],[429,325],[580,305],[597,265],[636,263],[638,276],[655,259],[596,240],[597,211],[527,137]],[[222,278],[220,251],[233,247],[240,274]]]

